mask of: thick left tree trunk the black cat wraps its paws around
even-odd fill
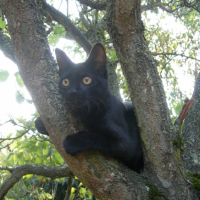
[[[71,157],[62,142],[78,129],[58,92],[58,75],[39,9],[34,0],[6,0],[5,14],[21,77],[50,134],[71,171],[99,199],[147,199],[145,180],[124,165],[96,152]]]

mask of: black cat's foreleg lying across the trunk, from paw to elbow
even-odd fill
[[[68,135],[63,145],[65,151],[72,156],[83,151],[96,150],[115,158],[130,155],[129,151],[131,151],[132,146],[129,138],[120,137],[119,133],[114,134],[111,131],[103,131],[102,133],[80,131]]]

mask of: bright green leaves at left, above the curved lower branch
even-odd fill
[[[36,134],[34,128],[36,116],[37,114],[34,114],[29,121],[19,118],[12,122],[16,127],[16,133],[8,135],[1,143],[1,147],[7,147],[4,153],[5,159],[0,161],[1,165],[14,167],[28,163],[47,166],[63,164],[62,157],[49,139]],[[11,136],[16,139],[11,140]]]

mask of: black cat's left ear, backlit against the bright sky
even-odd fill
[[[70,65],[72,64],[72,61],[70,58],[66,55],[66,53],[58,48],[55,49],[56,53],[56,60],[59,67],[59,75],[61,76],[63,72],[65,72],[67,69],[69,69]]]

